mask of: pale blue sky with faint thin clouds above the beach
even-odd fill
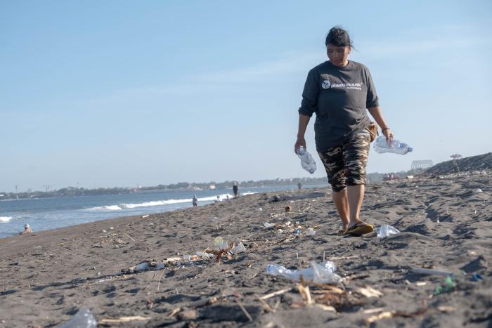
[[[490,152],[491,14],[488,0],[0,1],[0,191],[309,176],[297,109],[334,25],[415,150],[371,151],[368,172]]]

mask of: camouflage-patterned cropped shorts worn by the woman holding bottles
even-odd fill
[[[369,133],[362,131],[341,145],[330,147],[326,152],[318,152],[333,191],[345,190],[347,185],[365,185],[369,146]]]

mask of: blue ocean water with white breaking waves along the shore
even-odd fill
[[[327,188],[323,185],[306,185],[303,188]],[[257,192],[295,190],[295,185],[241,188],[240,195]],[[191,198],[198,197],[198,206],[233,198],[232,188],[227,190],[179,190],[134,192],[123,195],[84,197],[53,197],[0,201],[0,238],[18,235],[28,223],[33,232],[77,225],[106,218],[145,215],[174,211],[192,206]]]

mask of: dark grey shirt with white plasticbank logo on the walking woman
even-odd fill
[[[377,106],[368,67],[352,60],[345,67],[326,61],[309,71],[299,114],[316,112],[316,150],[325,152],[365,129],[370,122],[365,109]]]

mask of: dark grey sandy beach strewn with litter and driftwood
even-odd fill
[[[99,327],[492,327],[491,180],[368,185],[361,218],[400,231],[384,238],[338,236],[328,185],[6,237],[0,327],[57,327],[80,308]],[[246,251],[194,256],[219,236]],[[266,274],[323,258],[341,283]]]

